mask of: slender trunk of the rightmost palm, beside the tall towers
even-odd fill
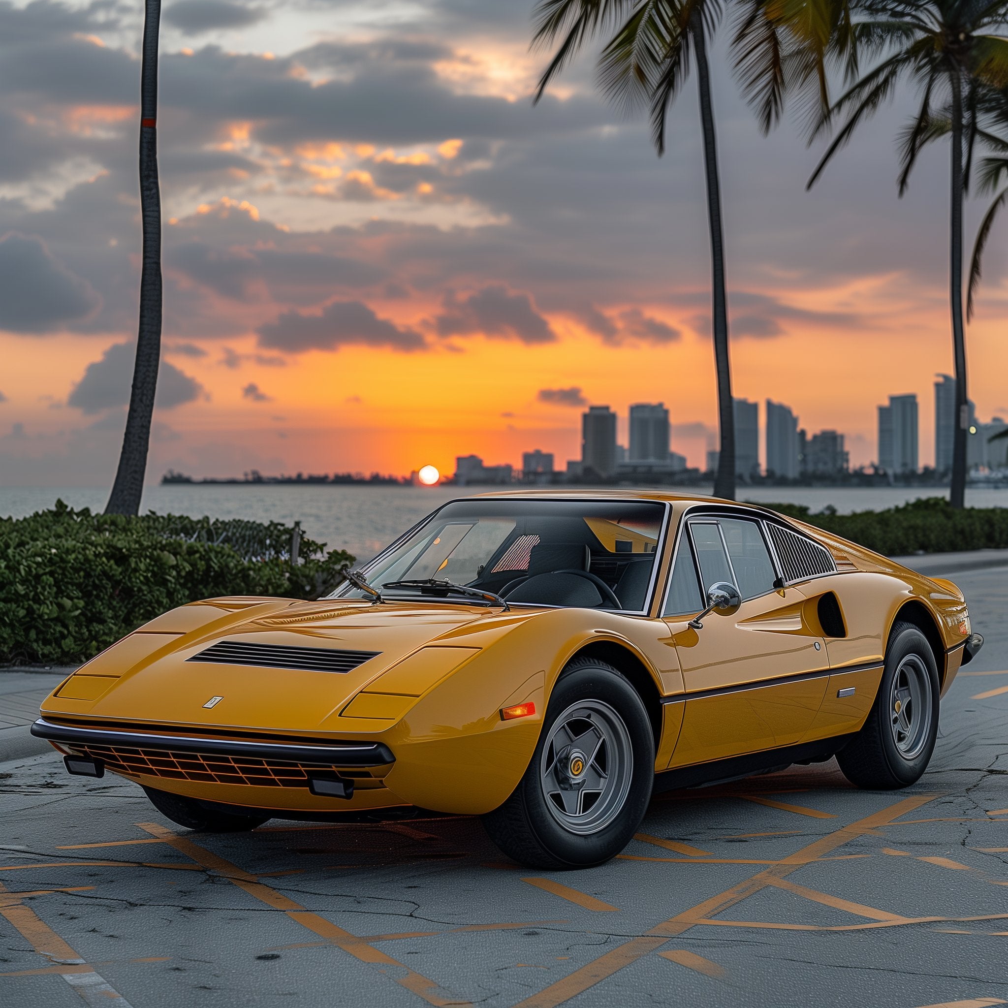
[[[953,434],[952,486],[949,501],[953,507],[966,505],[966,428],[970,407],[966,393],[966,337],[963,332],[963,94],[957,70],[952,78],[952,249],[951,296],[952,342],[956,365],[956,417]]]

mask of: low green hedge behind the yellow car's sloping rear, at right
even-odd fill
[[[942,497],[910,501],[885,511],[816,514],[795,504],[764,504],[810,525],[842,535],[887,556],[961,549],[1008,548],[1008,508],[956,509]]]

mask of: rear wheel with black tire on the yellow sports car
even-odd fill
[[[938,671],[927,638],[912,623],[894,623],[875,703],[861,731],[837,753],[844,776],[878,791],[919,780],[934,752],[938,704]]]

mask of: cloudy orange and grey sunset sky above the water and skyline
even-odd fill
[[[443,472],[580,452],[580,413],[663,401],[716,434],[697,97],[658,158],[594,52],[535,108],[528,0],[174,0],[161,36],[164,356],[148,481]],[[115,470],[139,285],[142,5],[0,0],[0,485]],[[723,26],[722,37],[728,35]],[[948,144],[897,199],[904,92],[811,193],[715,52],[737,395],[876,458],[875,407],[951,372]],[[968,235],[986,208],[968,207]],[[1008,417],[1008,219],[968,331]],[[762,454],[762,446],[761,446]]]

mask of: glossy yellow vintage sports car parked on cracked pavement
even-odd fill
[[[438,508],[326,599],[158,617],[32,732],[194,830],[420,807],[584,867],[655,786],[834,755],[862,787],[912,784],[982,643],[951,582],[763,508],[498,493]]]

